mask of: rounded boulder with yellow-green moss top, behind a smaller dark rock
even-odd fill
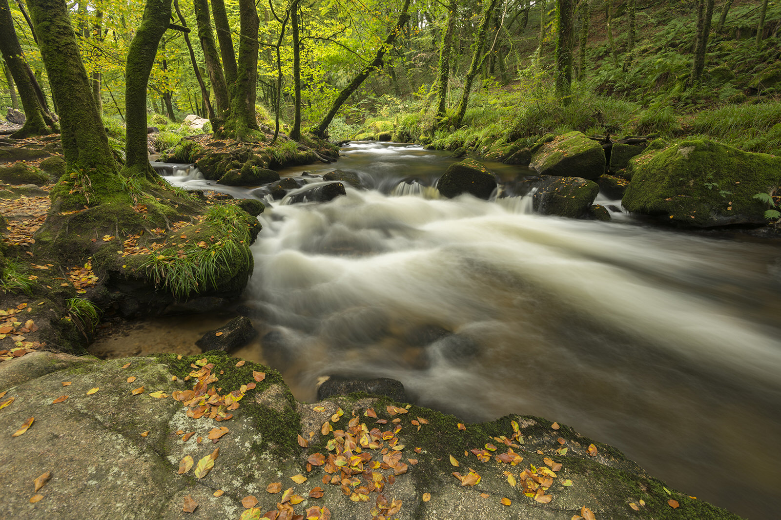
[[[604,173],[604,150],[583,133],[565,133],[537,148],[529,166],[540,175],[597,179]]]

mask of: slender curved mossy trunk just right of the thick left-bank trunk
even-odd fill
[[[146,0],[144,17],[127,50],[125,68],[126,133],[124,175],[148,175],[155,172],[149,165],[147,145],[147,84],[162,34],[171,18],[171,0]],[[170,94],[169,94],[170,95]],[[169,97],[166,98],[169,104]],[[173,118],[172,118],[173,120]]]

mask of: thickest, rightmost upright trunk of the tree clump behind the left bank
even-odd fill
[[[250,136],[252,130],[259,129],[258,122],[255,120],[255,85],[258,76],[260,21],[253,0],[239,0],[239,20],[241,39],[239,40],[236,81],[229,87],[230,111],[222,133],[243,141]],[[228,76],[227,69],[226,76]]]

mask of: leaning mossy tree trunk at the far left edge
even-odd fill
[[[9,81],[9,87],[13,88],[13,83],[16,83],[24,115],[27,118],[24,126],[12,133],[11,137],[24,139],[29,136],[56,133],[58,128],[46,108],[41,87],[38,87],[33,71],[24,61],[22,48],[16,38],[16,30],[13,29],[8,0],[0,0],[0,27],[4,27],[4,30],[0,30],[0,52],[13,78],[13,82]]]

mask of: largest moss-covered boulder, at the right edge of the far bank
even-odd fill
[[[633,213],[687,227],[765,224],[766,203],[781,182],[781,157],[751,154],[710,140],[648,147],[629,163],[622,204]]]

